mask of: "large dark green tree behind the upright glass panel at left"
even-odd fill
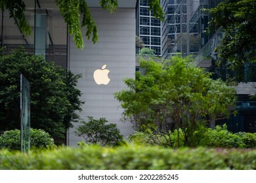
[[[78,119],[81,92],[75,88],[81,75],[47,63],[42,56],[22,50],[0,55],[0,131],[20,129],[20,73],[30,82],[31,127],[44,129],[57,144]]]

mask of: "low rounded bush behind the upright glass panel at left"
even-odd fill
[[[30,147],[31,148],[54,148],[54,141],[42,129],[30,129]],[[5,131],[0,136],[0,149],[7,148],[8,150],[20,150],[20,130],[13,129]]]

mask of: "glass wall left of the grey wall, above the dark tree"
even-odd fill
[[[0,0],[2,1],[2,0]],[[7,53],[23,46],[29,54],[42,55],[47,61],[54,61],[63,68],[67,62],[67,25],[60,15],[54,1],[23,0],[26,4],[26,19],[32,27],[32,33],[25,35],[9,18],[8,10],[1,12],[1,46],[7,47]],[[2,2],[1,2],[2,3]]]

